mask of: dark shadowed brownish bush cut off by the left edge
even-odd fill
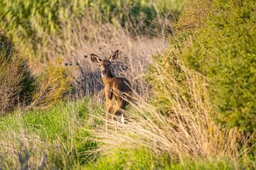
[[[0,33],[0,113],[31,100],[34,78],[24,59],[4,33]]]

